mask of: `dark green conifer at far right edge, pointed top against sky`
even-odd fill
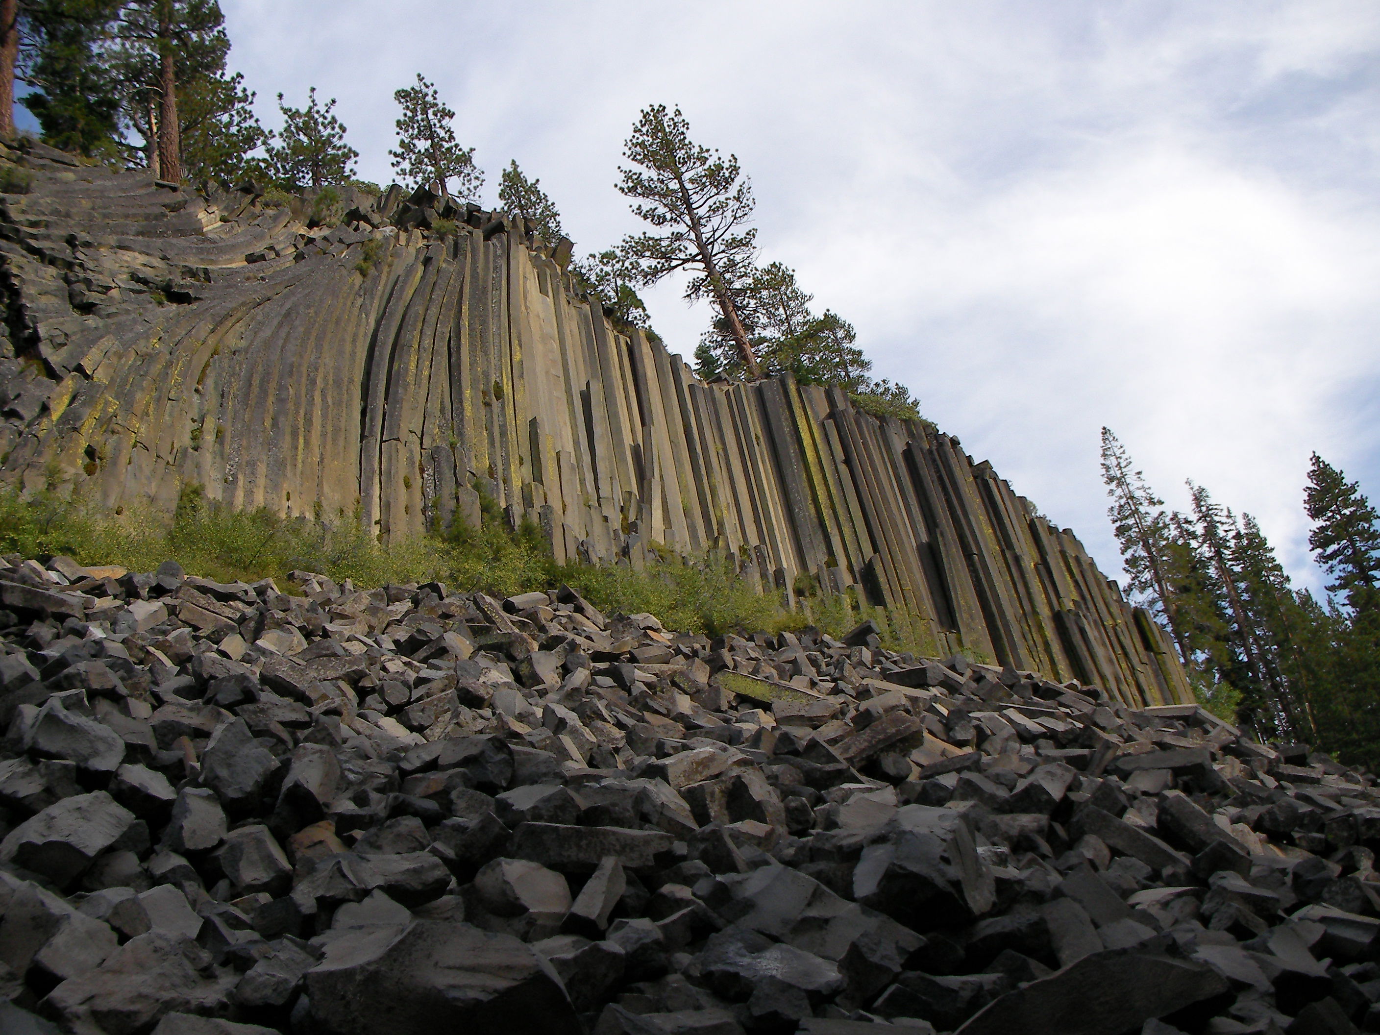
[[[1373,611],[1380,582],[1380,515],[1337,468],[1312,454],[1304,508],[1314,522],[1308,546],[1333,577],[1329,593],[1340,593],[1348,609]]]

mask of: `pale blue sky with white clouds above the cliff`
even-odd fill
[[[858,328],[875,373],[1118,570],[1110,425],[1170,504],[1254,513],[1319,578],[1318,450],[1380,497],[1380,6],[1065,0],[222,0],[259,94],[338,98],[388,182],[417,72],[497,197],[541,178],[581,250],[647,103],[738,156],[763,258]],[[707,313],[647,293],[690,355]]]

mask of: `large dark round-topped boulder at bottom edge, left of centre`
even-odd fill
[[[581,1035],[549,963],[468,923],[355,929],[306,972],[306,992],[323,1035]]]

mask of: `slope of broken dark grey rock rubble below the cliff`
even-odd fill
[[[574,592],[0,567],[6,1032],[1380,1031],[1373,778]]]

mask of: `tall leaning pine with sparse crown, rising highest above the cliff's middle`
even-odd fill
[[[658,233],[624,239],[621,251],[642,286],[679,270],[694,276],[686,298],[709,298],[726,322],[749,378],[762,368],[742,324],[734,288],[752,272],[756,230],[752,185],[733,155],[722,157],[690,139],[690,126],[676,108],[642,112],[624,145],[624,157],[636,168],[622,168],[618,190],[633,199],[632,211]]]

